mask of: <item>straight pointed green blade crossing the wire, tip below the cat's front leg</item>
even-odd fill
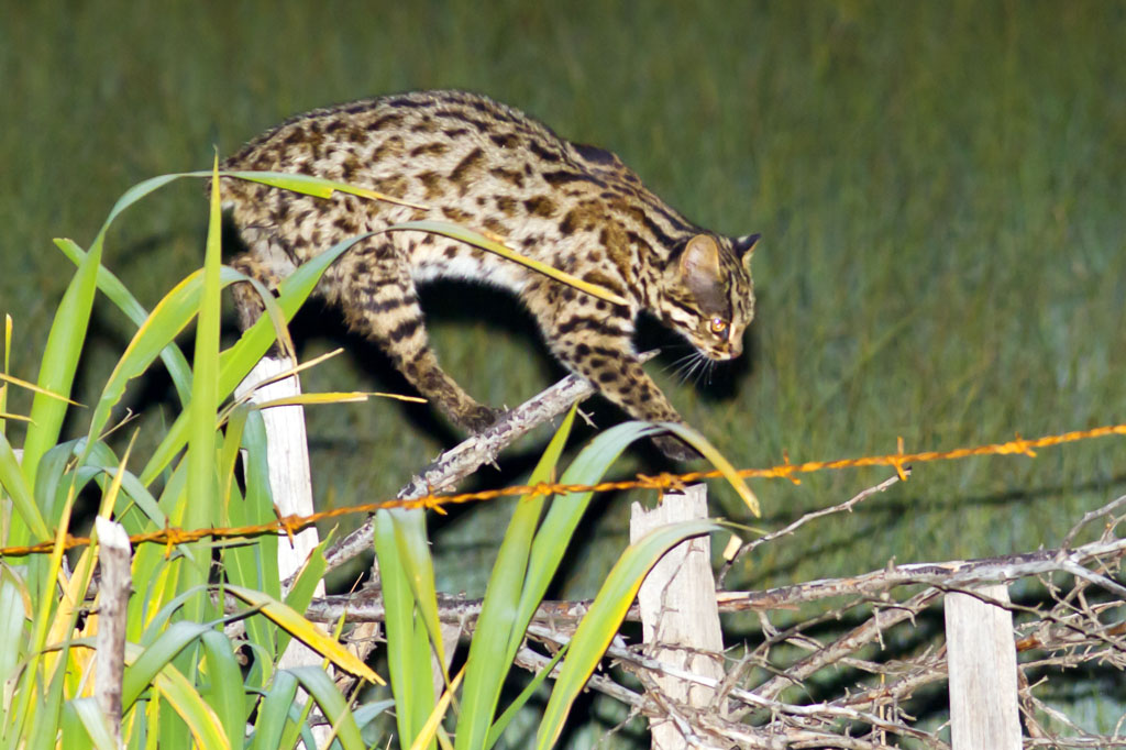
[[[555,466],[571,434],[574,414],[575,409],[572,408],[531,472],[529,484],[548,481],[555,475]],[[513,626],[528,568],[531,539],[535,537],[546,500],[544,495],[520,498],[501,541],[465,663],[465,688],[462,691],[462,712],[457,722],[455,748],[482,747],[492,724],[500,691],[511,664],[511,661],[504,659],[513,639],[519,642],[524,635],[522,632],[515,633]]]

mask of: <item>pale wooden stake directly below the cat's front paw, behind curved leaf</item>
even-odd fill
[[[700,518],[707,518],[707,490],[704,484],[696,484],[683,494],[665,494],[653,510],[646,511],[634,503],[629,541],[636,542],[658,526]],[[646,651],[652,657],[697,675],[723,679],[723,633],[708,537],[682,542],[665,553],[642,584],[637,604],[644,641],[649,644]],[[674,677],[654,675],[653,678],[665,698],[682,706],[706,708],[715,694],[709,687]],[[650,730],[655,749],[689,747],[689,740],[669,718],[651,720]]]

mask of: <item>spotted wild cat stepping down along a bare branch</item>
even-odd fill
[[[275,287],[336,242],[415,220],[500,235],[517,251],[624,297],[615,305],[524,266],[423,232],[379,234],[324,274],[318,291],[377,342],[453,421],[479,431],[498,412],[447,375],[427,342],[415,285],[437,277],[511,289],[551,350],[637,419],[682,421],[642,369],[634,320],[649,311],[711,359],[738,357],[754,312],[750,259],[758,235],[703,230],[650,193],[613,153],[565,141],[542,123],[462,91],[388,96],[314,109],[245,145],[226,170],[301,172],[428,206],[337,193],[322,199],[224,178],[224,206],[248,251],[240,270]],[[260,314],[235,286],[241,322]],[[672,457],[689,450],[656,438]]]

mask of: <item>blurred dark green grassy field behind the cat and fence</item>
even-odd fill
[[[1126,421],[1126,57],[1114,52],[1124,5],[5,6],[0,312],[15,319],[23,377],[36,375],[71,274],[51,239],[89,243],[134,182],[207,168],[216,148],[230,153],[306,108],[459,87],[615,150],[706,226],[762,233],[742,361],[709,385],[661,372],[676,351],[651,366],[736,465],[887,453],[900,436],[909,450],[948,448]],[[106,262],[152,305],[202,264],[204,222],[200,186],[178,185],[118,222]],[[511,405],[560,374],[513,303],[456,289],[429,306],[439,354],[471,393]],[[131,336],[110,305],[99,311],[91,384]],[[300,319],[303,355],[341,342],[352,352],[311,373],[307,390],[405,389],[327,320],[338,316],[315,305]],[[167,420],[168,396],[164,382],[137,384],[142,441]],[[620,418],[596,411],[602,426]],[[392,495],[457,439],[427,408],[385,402],[314,410],[310,432],[325,506]],[[520,479],[546,439],[481,482]],[[622,473],[656,467],[643,450]],[[761,526],[887,475],[759,483]],[[1120,439],[918,466],[905,485],[748,561],[733,582],[1053,545],[1124,486]],[[748,520],[718,485],[713,502]],[[626,507],[602,500],[566,592],[589,595],[605,574]],[[480,593],[495,512],[437,521],[449,590]]]

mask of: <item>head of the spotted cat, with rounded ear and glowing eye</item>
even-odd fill
[[[660,318],[712,359],[743,351],[743,332],[754,318],[751,255],[758,241],[758,234],[696,234],[665,268]]]

